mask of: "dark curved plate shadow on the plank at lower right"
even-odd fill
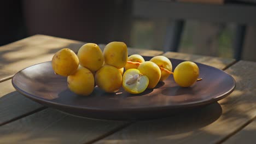
[[[216,102],[165,118],[137,121],[102,142],[188,143],[189,139],[193,139],[191,135],[200,135],[203,127],[217,121],[221,115],[222,107]],[[213,137],[218,135],[207,133],[206,137],[208,134]]]

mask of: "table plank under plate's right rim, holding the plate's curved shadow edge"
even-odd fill
[[[214,63],[213,63],[214,66]],[[218,143],[256,116],[256,63],[240,61],[226,70],[237,82],[228,97],[167,118],[141,121],[97,143]]]

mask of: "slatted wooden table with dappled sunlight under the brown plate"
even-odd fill
[[[63,47],[84,43],[34,35],[0,47],[0,143],[256,143],[256,63],[129,48],[129,54],[164,55],[223,69],[237,86],[228,97],[201,110],[148,121],[103,121],[44,107],[16,92],[11,77],[50,61]],[[100,45],[101,49],[104,45]]]

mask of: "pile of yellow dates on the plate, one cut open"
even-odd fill
[[[95,86],[108,93],[123,86],[125,91],[138,94],[154,88],[171,74],[179,86],[189,87],[199,76],[199,68],[193,62],[180,63],[172,73],[172,63],[164,56],[146,62],[140,55],[128,57],[126,44],[119,41],[107,44],[103,52],[93,43],[80,47],[77,55],[70,49],[61,49],[53,56],[52,65],[55,74],[67,76],[68,88],[79,95],[90,95]]]

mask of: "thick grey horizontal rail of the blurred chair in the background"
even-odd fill
[[[161,17],[169,19],[190,19],[211,22],[256,23],[252,14],[255,5],[249,4],[201,4],[172,1],[144,0],[133,3],[136,17]]]

